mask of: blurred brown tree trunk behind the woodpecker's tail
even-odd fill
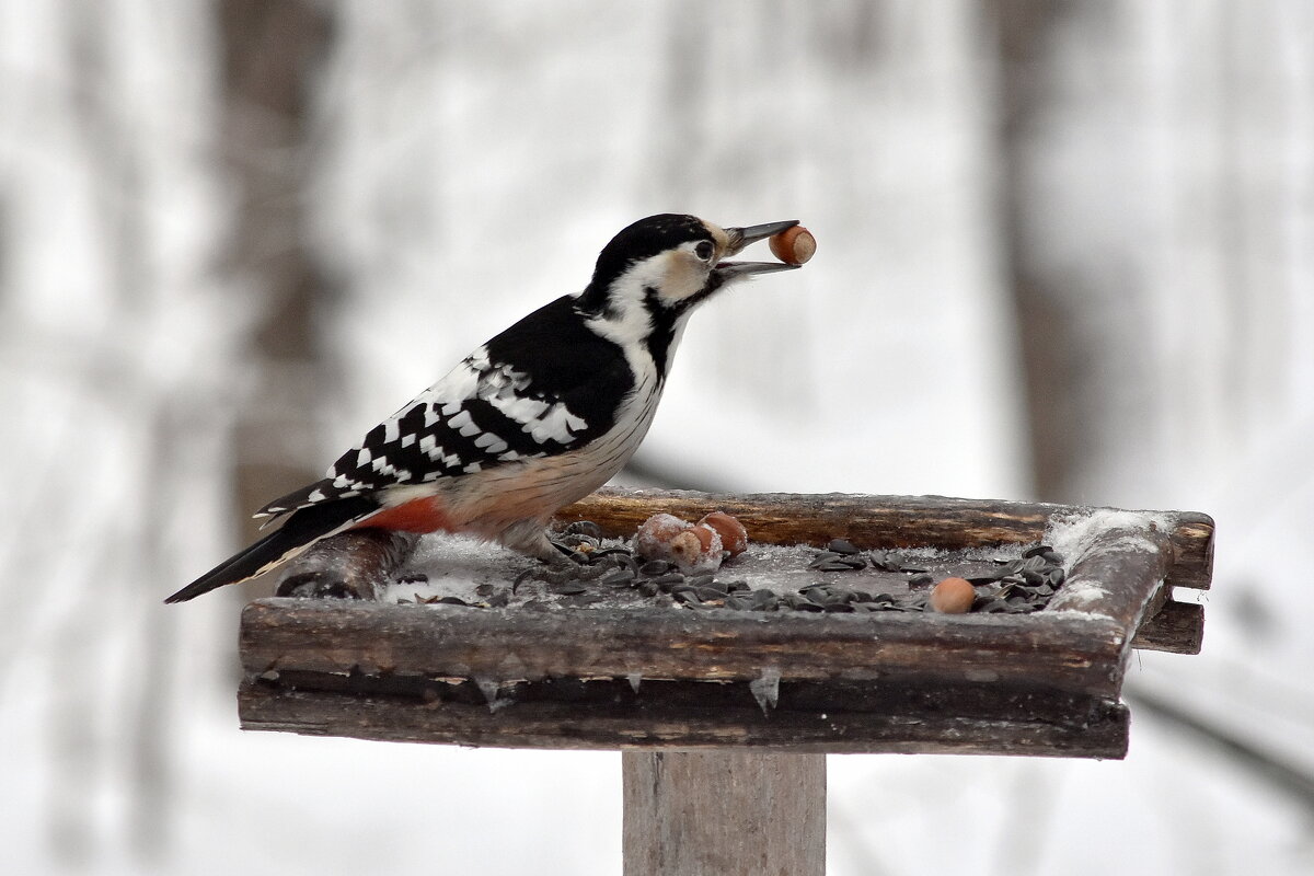
[[[306,176],[315,75],[334,38],[331,7],[225,0],[218,16],[225,165],[234,183],[229,271],[255,299],[251,385],[234,424],[237,504],[248,515],[321,475],[315,399],[326,362],[319,328],[331,303],[309,240]]]

